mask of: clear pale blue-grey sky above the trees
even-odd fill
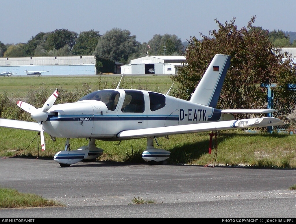
[[[234,17],[238,28],[252,26],[296,32],[295,0],[0,0],[0,41],[27,43],[40,32],[67,29],[80,33],[113,28],[148,42],[155,34],[176,35],[182,42],[218,30]]]

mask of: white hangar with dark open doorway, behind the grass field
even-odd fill
[[[176,74],[178,66],[186,62],[185,56],[147,55],[121,66],[121,74]]]

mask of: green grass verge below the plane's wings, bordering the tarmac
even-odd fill
[[[53,158],[54,154],[64,150],[64,138],[53,142],[45,133],[46,150],[41,151],[40,136],[37,132],[0,128],[0,156],[25,156]],[[35,138],[36,137],[36,138]],[[15,141],[17,139],[17,141]],[[296,135],[288,134],[254,134],[243,130],[223,131],[217,138],[218,145],[209,154],[209,134],[195,133],[158,138],[155,148],[171,152],[169,164],[250,166],[257,168],[295,169],[296,150],[293,142]],[[86,139],[71,139],[71,149],[87,145]],[[104,149],[99,161],[128,163],[146,163],[141,154],[146,150],[146,139],[134,139],[119,142],[96,141],[96,146]]]

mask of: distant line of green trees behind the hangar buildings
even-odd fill
[[[262,36],[268,36],[274,47],[296,47],[296,32],[268,31],[256,26],[249,31],[254,29],[259,30]],[[174,34],[155,34],[148,42],[140,43],[130,31],[119,28],[113,28],[104,35],[94,30],[78,34],[67,29],[56,29],[40,32],[27,43],[4,44],[0,41],[0,57],[95,55],[126,64],[146,55],[185,55],[190,39],[182,42]]]

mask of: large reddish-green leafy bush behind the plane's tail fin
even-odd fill
[[[295,83],[295,64],[282,61],[266,32],[251,29],[255,16],[247,28],[235,25],[235,18],[225,25],[215,20],[218,31],[210,31],[210,37],[201,33],[202,40],[189,39],[186,48],[186,64],[178,69],[172,80],[179,83],[178,97],[188,100],[202,74],[215,54],[233,55],[217,108],[266,108],[266,88],[262,83],[277,83],[282,94],[287,93],[286,84]],[[283,95],[282,95],[283,96]]]

